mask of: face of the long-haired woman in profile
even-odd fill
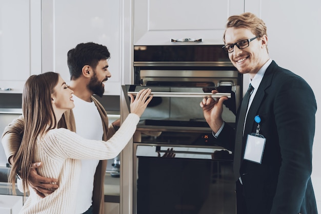
[[[53,109],[60,112],[73,109],[74,103],[72,99],[73,91],[67,87],[66,82],[59,75],[58,83],[54,87],[54,93],[51,94]]]

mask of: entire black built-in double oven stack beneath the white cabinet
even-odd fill
[[[199,106],[227,96],[223,119],[235,124],[243,78],[222,46],[134,47],[127,108],[143,88],[153,99],[133,136],[133,214],[235,213],[233,154],[218,146]]]

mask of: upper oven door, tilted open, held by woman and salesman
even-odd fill
[[[122,85],[128,110],[130,111],[129,94],[137,94],[141,89],[150,88],[153,99],[148,104],[147,109],[141,116],[141,121],[137,127],[146,129],[189,129],[209,130],[205,121],[203,110],[199,103],[204,97],[222,97],[229,99],[224,101],[223,119],[229,123],[235,123],[237,105],[238,86],[220,87],[144,87],[141,85]],[[217,94],[212,94],[212,90],[217,90]]]

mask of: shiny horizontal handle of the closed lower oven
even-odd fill
[[[209,160],[233,160],[232,152],[222,147],[181,147],[137,145],[137,157],[188,158]]]

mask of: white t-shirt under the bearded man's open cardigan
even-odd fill
[[[94,102],[87,102],[73,95],[76,133],[86,139],[103,139],[103,122]],[[84,213],[92,204],[94,175],[98,160],[82,160],[82,170],[76,198],[76,212]]]

